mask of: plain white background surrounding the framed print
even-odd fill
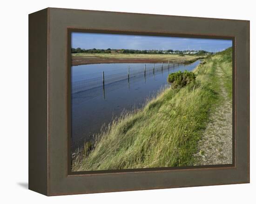
[[[3,0],[0,6],[0,203],[255,203],[255,5],[253,0]],[[250,20],[251,184],[46,197],[27,190],[28,13],[46,7]],[[253,93],[254,92],[254,93]],[[253,189],[255,188],[255,189]]]

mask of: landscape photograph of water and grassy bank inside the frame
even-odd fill
[[[72,172],[232,164],[231,38],[70,35]]]

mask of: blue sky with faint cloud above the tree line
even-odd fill
[[[205,50],[220,51],[232,46],[232,40],[176,38],[102,33],[71,33],[71,47],[82,49],[133,50]]]

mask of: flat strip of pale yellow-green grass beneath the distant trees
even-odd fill
[[[161,60],[171,60],[171,61],[177,61],[179,59],[186,60],[186,61],[194,61],[197,58],[205,57],[205,56],[193,56],[193,55],[167,55],[167,54],[125,54],[125,53],[99,53],[99,54],[93,54],[93,53],[72,53],[72,57],[81,57],[81,58],[132,58],[132,59],[148,59],[148,58],[154,58],[154,59],[161,59]]]

